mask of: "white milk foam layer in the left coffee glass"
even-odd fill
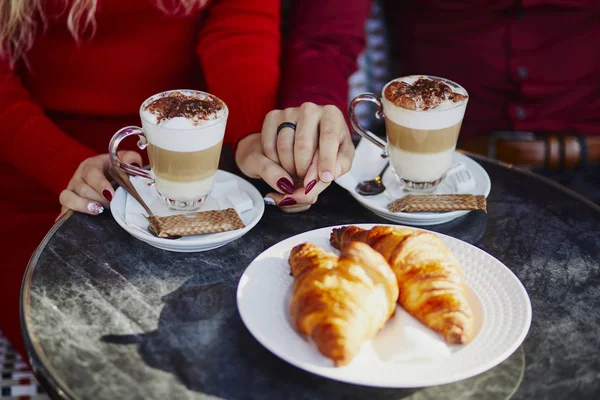
[[[176,90],[186,96],[210,98],[202,92]],[[170,92],[166,92],[168,94]],[[148,104],[166,94],[153,96],[146,100],[140,108],[142,128],[146,133],[149,143],[170,151],[200,151],[215,146],[225,136],[225,125],[227,123],[228,110],[224,106],[217,111],[216,117],[200,122],[194,122],[190,118],[175,117],[163,119],[158,122],[156,114],[146,110]]]

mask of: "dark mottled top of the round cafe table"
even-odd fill
[[[324,226],[387,223],[337,185],[308,212],[267,207],[247,235],[204,253],[150,247],[108,212],[66,215],[23,280],[32,367],[52,396],[67,399],[599,398],[600,207],[532,173],[477,160],[492,181],[488,214],[428,228],[500,259],[531,297],[525,342],[486,373],[423,389],[356,386],[282,361],[246,330],[237,283],[265,248]]]

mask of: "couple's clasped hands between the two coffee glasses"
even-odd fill
[[[296,124],[296,131],[277,128]],[[249,177],[262,178],[277,193],[269,193],[284,211],[310,208],[334,179],[352,166],[354,145],[342,112],[335,106],[304,103],[267,114],[262,132],[238,143],[236,163]]]

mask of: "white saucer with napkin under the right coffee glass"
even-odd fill
[[[381,158],[381,150],[366,140],[361,140],[356,148],[356,156],[350,171],[338,178],[336,183],[346,189],[363,207],[373,211],[381,218],[399,224],[412,226],[428,226],[450,222],[470,211],[449,212],[419,212],[419,213],[392,213],[388,211],[387,205],[397,198],[408,194],[401,191],[400,183],[396,180],[394,172],[388,168],[383,176],[383,183],[389,189],[376,196],[361,196],[354,188],[361,180],[373,179],[377,176],[385,164],[386,159]],[[487,172],[466,155],[455,152],[452,155],[453,164],[462,164],[475,181],[474,187],[466,192],[459,192],[451,187],[449,180],[444,180],[433,192],[434,194],[475,194],[488,196],[492,188],[490,177]],[[393,193],[393,195],[392,195]],[[480,212],[480,211],[478,211]]]

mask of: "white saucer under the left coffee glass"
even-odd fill
[[[232,173],[222,170],[217,171],[215,185],[218,186],[219,182],[230,180],[237,181],[239,190],[246,192],[254,204],[254,207],[251,210],[245,211],[240,215],[240,218],[246,226],[235,231],[212,233],[208,235],[184,236],[176,240],[157,238],[147,230],[129,226],[125,222],[125,205],[129,195],[121,187],[115,192],[115,196],[110,203],[110,210],[115,221],[117,221],[123,229],[135,238],[148,243],[151,246],[163,250],[185,253],[212,250],[244,236],[258,223],[258,221],[260,221],[265,211],[263,197],[250,182]]]

